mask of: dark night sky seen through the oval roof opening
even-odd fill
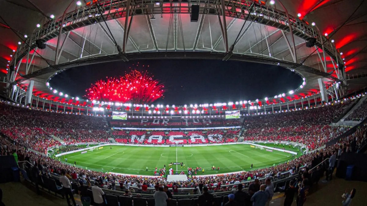
[[[300,76],[283,67],[222,60],[144,60],[80,66],[58,74],[50,84],[58,91],[82,97],[90,84],[123,76],[131,70],[129,67],[148,70],[164,84],[164,98],[155,104],[255,100],[286,93],[302,84]]]

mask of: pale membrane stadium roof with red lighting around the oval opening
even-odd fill
[[[225,22],[221,21],[222,2]],[[342,72],[336,73],[337,63],[342,65],[342,62],[346,66],[348,89],[355,91],[366,86],[367,1],[283,0],[284,7],[279,0],[275,0],[274,5],[271,1],[256,1],[254,8],[251,8],[252,1],[200,1],[197,22],[190,22],[189,12],[190,5],[198,1],[113,0],[99,1],[98,7],[90,6],[90,0],[81,1],[80,6],[76,3],[76,0],[0,2],[2,78],[12,70],[12,65],[19,67],[14,69],[18,71],[15,80],[22,80],[18,83],[27,85],[29,80],[34,80],[33,92],[52,99],[57,95],[46,87],[46,82],[60,70],[72,66],[117,60],[202,58],[256,61],[294,68],[307,82],[304,88],[295,88],[294,95],[318,91],[318,78],[324,82],[343,80]],[[128,6],[128,22],[125,21],[126,4],[131,6]],[[294,44],[285,23],[285,8],[294,26]],[[64,11],[66,15],[62,18]],[[65,23],[59,38],[60,21]],[[227,34],[221,27],[227,28]],[[316,46],[320,47],[317,52],[314,52],[315,47],[306,47],[306,40],[311,37],[317,38]],[[37,39],[47,41],[46,48],[37,48],[35,53],[26,44],[36,48],[34,40]],[[227,45],[225,39],[228,39]],[[125,51],[124,55],[119,55],[116,43]],[[233,55],[228,55],[232,44],[235,45]],[[295,55],[291,50],[293,45]],[[13,82],[11,78],[6,81]]]

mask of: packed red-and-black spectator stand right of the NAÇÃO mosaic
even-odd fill
[[[345,132],[345,128],[332,127],[330,124],[333,119],[345,112],[345,107],[349,106],[350,103],[344,103],[302,111],[246,117],[242,136],[246,141],[293,141],[314,150]]]

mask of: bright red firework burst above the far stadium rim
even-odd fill
[[[132,70],[120,78],[98,80],[86,90],[89,100],[149,103],[163,97],[163,84],[153,80],[147,71]]]

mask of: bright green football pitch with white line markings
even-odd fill
[[[273,147],[273,145],[272,145]],[[287,148],[288,149],[288,148]],[[297,150],[289,148],[288,150]],[[65,162],[84,169],[100,172],[116,172],[124,174],[154,175],[154,170],[163,168],[170,162],[183,162],[181,165],[173,165],[174,171],[184,171],[187,168],[204,168],[201,174],[219,174],[237,171],[248,171],[278,165],[293,159],[291,154],[279,151],[266,151],[250,147],[247,144],[232,144],[218,146],[199,147],[138,147],[138,146],[104,146],[102,149],[81,154],[75,152],[58,157]],[[251,169],[251,164],[253,168]],[[219,167],[220,170],[211,170],[211,167]],[[148,167],[148,171],[146,171]]]

